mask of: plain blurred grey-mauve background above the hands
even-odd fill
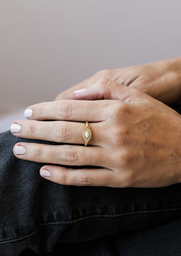
[[[180,0],[0,0],[0,132],[101,69],[181,55]]]

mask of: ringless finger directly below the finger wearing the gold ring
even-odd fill
[[[22,160],[68,166],[101,166],[104,154],[101,147],[54,146],[37,143],[17,143],[13,152]]]

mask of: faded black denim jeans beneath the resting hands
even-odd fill
[[[51,252],[55,244],[61,256],[181,255],[181,184],[119,189],[52,183],[39,175],[44,164],[14,157],[21,141],[58,144],[0,135],[1,256],[26,248]]]

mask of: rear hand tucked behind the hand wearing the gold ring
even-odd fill
[[[142,90],[165,104],[177,103],[181,95],[181,58],[124,69],[101,70],[82,83],[60,93],[56,100],[74,99],[75,90],[90,87],[101,78]]]

